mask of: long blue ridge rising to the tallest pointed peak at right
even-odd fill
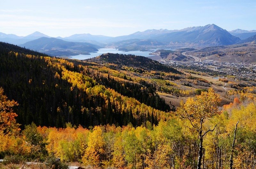
[[[240,41],[239,38],[231,35],[228,31],[216,26],[195,26],[181,30],[146,30],[136,32],[126,36],[119,36],[108,40],[109,42],[129,40],[129,39],[152,39],[165,44],[189,43],[203,46],[230,45]]]

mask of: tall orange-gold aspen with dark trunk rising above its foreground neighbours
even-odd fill
[[[211,119],[212,116],[219,114],[220,96],[209,88],[208,92],[202,92],[194,98],[188,98],[186,103],[181,101],[180,107],[177,109],[177,114],[182,119],[187,119],[192,129],[198,133],[200,139],[198,151],[197,169],[201,169],[201,159],[203,157],[203,138],[204,136],[215,129],[206,129],[204,121]]]

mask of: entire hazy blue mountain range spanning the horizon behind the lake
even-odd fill
[[[97,51],[99,48],[119,48],[119,50],[131,51],[156,48],[201,48],[232,45],[244,43],[245,41],[248,42],[250,39],[247,38],[255,34],[256,30],[236,29],[228,32],[219,26],[209,24],[181,30],[150,29],[118,37],[84,33],[64,38],[52,38],[40,32],[22,37],[14,34],[0,33],[0,41],[20,45],[21,47],[25,46],[40,52],[47,52],[49,55],[76,55],[88,54],[92,51]]]

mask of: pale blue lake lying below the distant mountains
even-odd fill
[[[154,50],[155,51],[155,50]],[[90,53],[91,55],[75,55],[75,56],[70,56],[70,59],[78,59],[78,60],[83,60],[83,59],[89,59],[92,57],[96,57],[99,56],[101,54],[104,53],[118,53],[118,54],[132,54],[132,55],[139,55],[139,56],[153,56],[153,55],[149,55],[150,53],[152,53],[152,51],[120,51],[114,48],[101,48],[99,49],[98,52],[92,52]]]

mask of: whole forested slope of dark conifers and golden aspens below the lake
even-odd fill
[[[81,62],[0,43],[0,168],[254,169],[255,83],[229,76],[224,90],[191,75],[133,55]]]

